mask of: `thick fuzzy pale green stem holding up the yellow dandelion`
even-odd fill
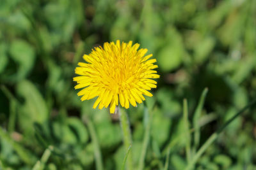
[[[132,136],[128,116],[126,111],[124,109],[121,109],[119,106],[117,112],[119,114],[120,126],[123,132],[125,151],[127,151],[129,147],[132,146]],[[132,150],[127,157],[126,165],[128,170],[133,170]]]

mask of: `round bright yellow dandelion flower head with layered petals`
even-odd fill
[[[118,103],[129,108],[129,103],[136,106],[136,103],[145,101],[143,95],[152,96],[148,90],[156,88],[156,81],[150,78],[159,78],[157,68],[153,63],[156,59],[149,59],[152,54],[144,56],[147,49],[139,48],[139,44],[132,45],[116,41],[104,43],[92,50],[83,59],[88,63],[79,62],[74,77],[77,81],[75,89],[81,89],[77,93],[81,101],[97,97],[93,108],[99,104],[99,109],[107,108],[110,104],[110,113],[114,113]],[[149,60],[148,60],[149,59]]]

